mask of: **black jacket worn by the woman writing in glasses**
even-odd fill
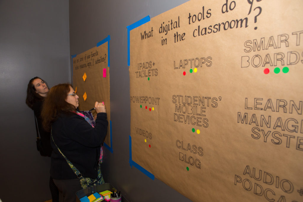
[[[96,126],[93,128],[82,116],[62,114],[52,124],[52,136],[56,145],[83,177],[96,178],[98,175],[96,168],[100,147],[107,133],[106,119],[106,113],[98,113]],[[77,178],[53,141],[51,145],[52,178],[57,180]]]

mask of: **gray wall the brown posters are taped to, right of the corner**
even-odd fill
[[[151,18],[185,0],[73,0],[69,2],[70,53],[80,54],[107,35],[110,40],[110,94],[113,153],[105,149],[105,182],[130,201],[190,201],[158,179],[129,165],[130,100],[127,66],[128,25]],[[140,50],[138,50],[140,51]],[[170,172],[169,170],[167,172]],[[159,200],[161,199],[161,200]]]

